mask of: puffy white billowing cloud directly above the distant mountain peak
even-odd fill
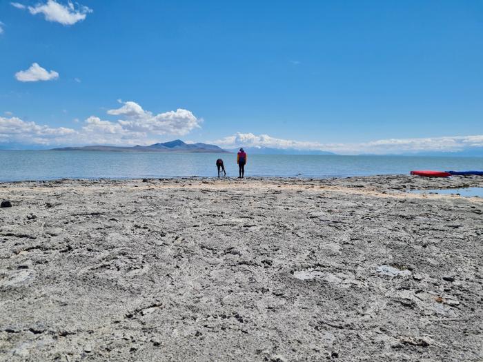
[[[123,103],[123,102],[121,102]],[[189,110],[152,114],[141,108],[141,105],[128,101],[121,108],[108,110],[108,114],[119,116],[119,123],[126,129],[135,132],[151,132],[154,134],[175,134],[183,136],[195,128],[200,128],[202,119],[198,119]]]

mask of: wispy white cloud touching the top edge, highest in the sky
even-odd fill
[[[19,5],[21,6],[19,3],[12,3],[12,6],[22,9]],[[25,6],[23,6],[23,8],[25,8]],[[86,19],[87,14],[92,12],[92,9],[81,5],[75,8],[74,4],[70,1],[68,1],[67,5],[62,5],[55,0],[48,0],[46,3],[38,3],[36,6],[29,6],[28,11],[32,15],[43,14],[47,21],[54,21],[61,23],[62,25],[73,25],[77,23],[77,21]]]

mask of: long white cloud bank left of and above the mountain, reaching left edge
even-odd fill
[[[121,108],[109,110],[108,114],[119,116],[120,119],[107,121],[91,116],[77,130],[39,125],[19,117],[0,117],[0,143],[148,145],[159,141],[160,134],[187,134],[201,123],[201,119],[188,110],[178,109],[153,115],[135,102],[125,102]]]

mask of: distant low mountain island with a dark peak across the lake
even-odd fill
[[[206,143],[184,143],[181,139],[153,145],[122,147],[113,145],[86,145],[83,147],[52,148],[54,151],[129,151],[129,152],[190,152],[190,153],[230,153],[217,145]]]

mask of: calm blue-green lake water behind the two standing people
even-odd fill
[[[236,154],[161,152],[0,151],[0,181],[129,179],[217,175],[224,160],[238,176]],[[399,157],[248,154],[245,176],[348,177],[411,170],[483,170],[483,157]]]

